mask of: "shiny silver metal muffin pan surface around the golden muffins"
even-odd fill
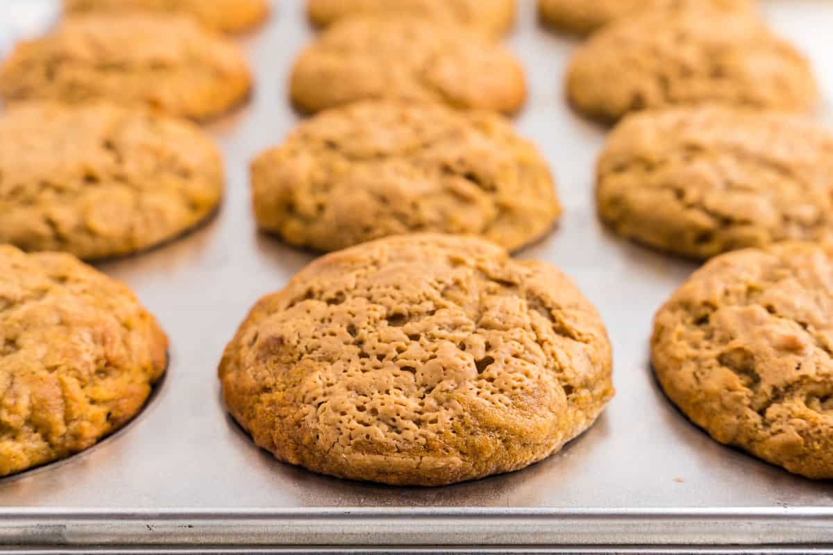
[[[572,113],[561,86],[577,42],[538,27],[531,1],[521,3],[508,42],[526,66],[531,98],[516,124],[551,162],[566,216],[520,256],[560,266],[606,321],[618,394],[596,426],[521,472],[424,489],[277,463],[227,417],[216,378],[223,347],[255,300],[312,260],[257,234],[249,209],[248,161],[298,121],[287,76],[312,30],[301,0],[287,0],[241,39],[257,76],[252,102],[209,127],[227,164],[222,211],[176,243],[100,266],[132,285],[170,334],[167,379],[102,444],[0,480],[0,545],[833,546],[833,483],[716,444],[651,377],[653,313],[695,266],[620,240],[597,221],[593,167],[606,130]],[[819,116],[833,122],[833,4],[765,7],[811,55],[826,98]]]

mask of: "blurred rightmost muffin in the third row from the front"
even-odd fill
[[[765,23],[710,10],[612,23],[576,52],[566,88],[576,110],[600,121],[706,102],[809,111],[818,98],[809,62]]]

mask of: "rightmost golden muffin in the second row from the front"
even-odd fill
[[[804,116],[729,107],[636,114],[597,169],[620,235],[706,259],[780,240],[833,240],[833,135]]]

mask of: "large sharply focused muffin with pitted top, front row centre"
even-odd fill
[[[569,278],[452,235],[314,261],[255,305],[219,374],[278,459],[400,485],[523,468],[613,395],[605,327]]]

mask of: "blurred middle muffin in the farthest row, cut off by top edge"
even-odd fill
[[[516,0],[308,0],[307,12],[319,27],[357,14],[396,13],[431,17],[500,36],[515,21]]]

